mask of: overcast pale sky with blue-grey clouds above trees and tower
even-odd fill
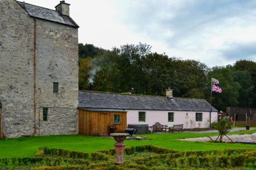
[[[55,0],[26,3],[54,9]],[[152,45],[169,57],[208,66],[256,61],[256,1],[67,0],[79,42],[105,49],[126,43]]]

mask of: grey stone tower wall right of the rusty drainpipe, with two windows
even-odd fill
[[[39,131],[41,135],[75,134],[78,127],[78,30],[45,20],[37,19],[36,23],[37,108],[41,111],[41,128],[37,126],[37,134]],[[53,93],[53,82],[59,83],[57,94]],[[42,108],[49,108],[48,122],[42,122]]]

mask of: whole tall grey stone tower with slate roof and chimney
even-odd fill
[[[69,6],[0,0],[0,121],[7,138],[77,133],[78,25]]]

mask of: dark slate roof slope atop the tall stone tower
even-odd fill
[[[69,16],[66,15],[60,15],[57,11],[44,8],[44,7],[38,7],[35,5],[31,5],[28,3],[23,3],[17,1],[17,3],[22,6],[31,17],[36,17],[40,19],[45,19],[53,22],[62,23],[64,25],[72,26],[79,28],[79,26],[76,24],[76,22]]]

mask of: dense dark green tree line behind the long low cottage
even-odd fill
[[[182,60],[153,53],[143,43],[104,50],[79,44],[79,89],[145,95],[206,99],[210,102],[211,78],[218,79],[222,93],[212,92],[212,105],[256,107],[256,63],[239,60],[233,65],[209,68],[196,60]]]

